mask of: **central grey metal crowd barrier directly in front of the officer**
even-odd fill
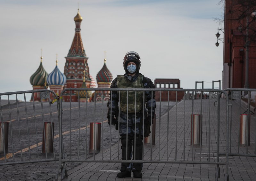
[[[101,101],[88,102],[90,91],[101,92]],[[145,92],[148,91],[151,96],[153,91],[160,91],[160,101],[157,103],[156,111],[156,145],[143,144],[142,160],[121,160],[121,142],[119,141],[119,131],[115,126],[109,126],[107,123],[107,102],[106,97],[110,93],[112,98],[113,91],[126,91],[127,105],[129,91],[135,92],[135,107],[137,93],[143,91],[143,102],[146,101]],[[167,101],[161,101],[161,94],[167,92]],[[170,93],[176,94],[176,101],[169,101]],[[178,100],[178,92],[183,92],[184,97]],[[192,93],[191,93],[192,92]],[[209,99],[194,100],[194,93],[209,92]],[[191,94],[190,94],[191,93]],[[174,94],[174,95],[175,95]],[[225,95],[225,99],[220,99],[220,95]],[[78,102],[72,102],[73,96],[78,96]],[[83,97],[81,97],[83,95]],[[172,94],[173,95],[173,94]],[[188,96],[191,95],[191,96]],[[61,169],[61,179],[67,177],[66,163],[68,162],[100,162],[100,163],[184,163],[184,164],[208,164],[216,165],[215,180],[220,177],[220,165],[225,165],[225,178],[228,177],[228,154],[229,154],[229,125],[228,125],[228,94],[222,90],[205,89],[92,89],[92,88],[68,88],[61,92],[60,96],[66,96],[67,102],[60,100],[60,137],[59,137],[59,159],[58,171]],[[190,97],[190,100],[186,98]],[[82,102],[82,100],[85,102]],[[97,99],[99,100],[99,99]],[[119,94],[120,100],[120,94]],[[148,100],[148,101],[152,101]],[[179,102],[178,102],[179,101]],[[221,104],[220,104],[221,102]],[[152,102],[151,102],[152,103]],[[111,101],[112,104],[112,101]],[[161,106],[163,105],[163,106]],[[69,106],[68,111],[63,111],[63,107]],[[128,107],[128,106],[127,106]],[[66,108],[66,107],[65,107]],[[78,109],[77,111],[72,111]],[[111,108],[112,109],[112,108]],[[128,108],[127,108],[128,109]],[[161,110],[162,109],[162,110]],[[165,110],[164,110],[165,109]],[[120,129],[120,105],[118,105],[118,129]],[[220,110],[224,112],[220,117]],[[136,112],[136,111],[135,111]],[[135,113],[135,117],[136,117]],[[191,118],[200,115],[200,145],[190,144],[194,142],[194,124]],[[203,116],[204,115],[204,116]],[[144,125],[144,112],[142,115]],[[128,115],[127,115],[128,124]],[[112,122],[112,119],[110,120]],[[89,153],[89,130],[90,123],[94,125],[101,123],[101,146],[100,153],[94,151]],[[152,126],[152,116],[151,116]],[[96,129],[96,128],[95,128]],[[136,124],[134,125],[136,130]],[[215,134],[215,129],[217,133]],[[221,129],[221,132],[220,132]],[[95,132],[96,130],[94,130]],[[69,133],[69,134],[64,134]],[[128,132],[126,131],[126,134]],[[144,127],[142,134],[144,137]],[[192,135],[190,135],[192,134]],[[96,140],[95,134],[92,134],[93,140]],[[97,134],[96,134],[97,135]],[[134,136],[135,133],[134,133]],[[152,140],[152,134],[151,140]],[[128,136],[126,136],[127,138]],[[204,139],[202,139],[204,137]],[[221,142],[220,142],[221,139]],[[126,141],[127,142],[127,141]],[[115,144],[117,143],[117,144]],[[221,145],[220,145],[221,144]],[[136,143],[134,144],[136,145]],[[126,147],[127,148],[127,147]],[[135,148],[136,149],[136,148]],[[127,151],[127,150],[126,150]],[[220,158],[221,153],[225,152],[225,157]],[[135,150],[136,154],[136,150]],[[216,154],[216,157],[215,157]],[[65,155],[65,157],[64,157]],[[127,154],[126,154],[127,155]],[[199,156],[199,157],[198,157]],[[136,156],[134,156],[136,158]],[[213,167],[215,169],[215,167]],[[58,179],[58,171],[56,180]]]

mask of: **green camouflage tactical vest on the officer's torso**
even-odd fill
[[[144,88],[142,80],[143,75],[139,75],[134,82],[125,81],[125,76],[117,76],[117,88]],[[127,91],[118,91],[120,93],[120,111],[127,112]],[[143,91],[136,92],[136,112],[140,112],[143,105]],[[128,113],[135,113],[135,91],[128,91]]]

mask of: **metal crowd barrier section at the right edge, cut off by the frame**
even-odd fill
[[[255,115],[256,89],[230,88],[224,91],[228,92],[230,98],[228,104],[230,106],[229,155],[255,157],[256,120],[252,115]],[[246,96],[243,96],[244,92],[247,93]]]

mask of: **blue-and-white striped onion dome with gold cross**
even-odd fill
[[[55,69],[47,76],[46,81],[49,85],[64,85],[66,83],[66,76],[60,72],[57,64],[58,60],[56,60]]]

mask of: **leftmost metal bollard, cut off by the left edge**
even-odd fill
[[[2,132],[4,130],[4,132]],[[8,122],[0,122],[0,153],[8,152],[8,130],[9,123]],[[5,149],[4,149],[5,148]]]

